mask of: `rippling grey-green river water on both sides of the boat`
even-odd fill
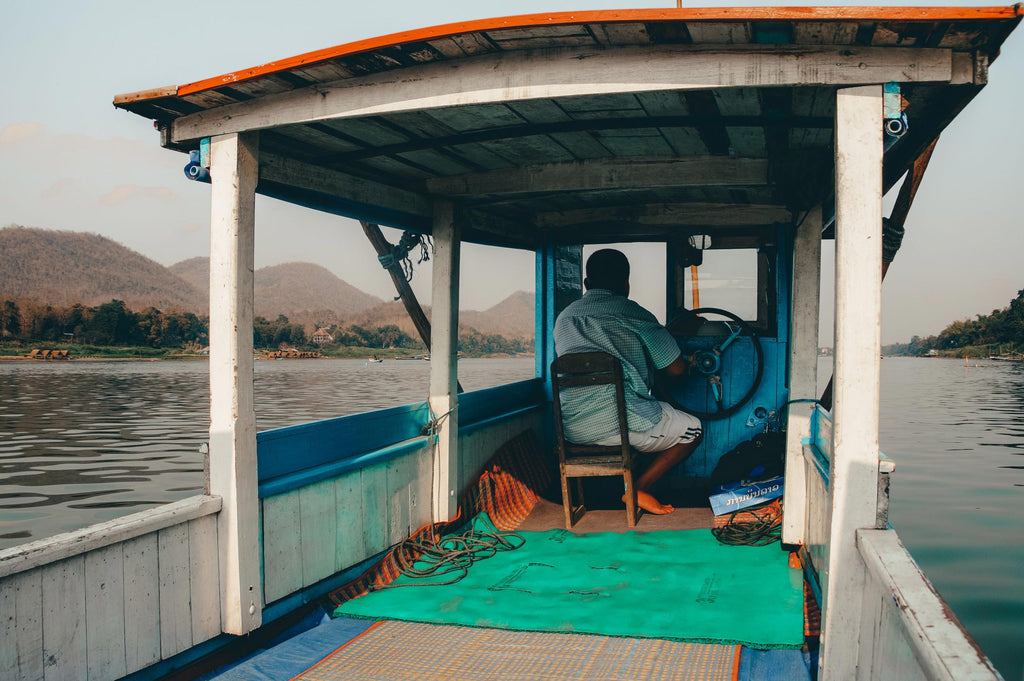
[[[259,430],[422,401],[426,361],[256,363]],[[822,361],[827,380],[830,367]],[[0,549],[202,493],[202,361],[0,363]],[[468,390],[531,358],[463,359]],[[890,521],[1010,680],[1024,668],[1024,365],[887,358]]]

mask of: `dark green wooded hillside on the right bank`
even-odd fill
[[[977,349],[969,354],[993,352],[1020,352],[1024,350],[1024,289],[1002,309],[990,314],[979,314],[974,320],[953,322],[937,336],[914,336],[908,343],[894,343],[882,348],[885,354],[920,355],[936,352]]]

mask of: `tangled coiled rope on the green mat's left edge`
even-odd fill
[[[432,582],[404,582],[375,585],[371,591],[393,589],[395,587],[439,587],[459,582],[469,571],[469,566],[477,560],[489,558],[500,551],[514,551],[526,540],[516,533],[501,530],[469,529],[454,535],[437,536],[433,530],[419,537],[410,537],[397,546],[398,570],[416,580],[442,578]]]

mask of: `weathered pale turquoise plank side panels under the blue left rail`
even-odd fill
[[[460,435],[461,486],[506,441],[542,432],[535,410]],[[263,593],[273,603],[409,537],[430,522],[429,445],[262,500]],[[297,557],[301,557],[298,560]]]

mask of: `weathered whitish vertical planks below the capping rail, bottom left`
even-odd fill
[[[0,679],[108,681],[220,634],[217,515],[0,579]]]

